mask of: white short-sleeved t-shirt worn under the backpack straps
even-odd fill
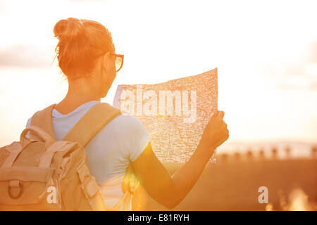
[[[89,101],[67,115],[54,109],[52,120],[56,141],[63,140],[78,120],[98,103]],[[26,127],[30,126],[30,120],[27,120]],[[85,147],[89,170],[101,187],[106,208],[113,208],[123,196],[121,187],[125,169],[130,161],[137,160],[149,141],[142,123],[136,117],[123,113],[111,120]]]

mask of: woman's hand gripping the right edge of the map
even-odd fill
[[[229,138],[227,124],[223,121],[224,115],[223,111],[214,113],[201,136],[199,145],[204,146],[201,149],[209,151],[210,156],[218,146]]]

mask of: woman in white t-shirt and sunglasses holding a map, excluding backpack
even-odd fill
[[[106,27],[92,20],[60,20],[54,26],[54,34],[59,40],[58,65],[69,84],[66,97],[52,112],[54,133],[59,141],[106,96],[122,67],[123,56],[115,54]],[[168,208],[178,205],[196,183],[215,148],[228,139],[223,115],[218,111],[211,117],[197,150],[172,177],[156,158],[149,135],[139,120],[123,114],[109,122],[85,147],[90,172],[101,187],[106,208],[111,209],[123,195],[121,184],[130,162],[154,200]]]

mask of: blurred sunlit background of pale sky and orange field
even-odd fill
[[[0,146],[68,84],[53,27],[74,17],[110,30],[118,84],[156,84],[218,68],[230,139],[178,210],[316,210],[316,1],[0,1]],[[173,174],[181,165],[166,163]],[[258,188],[268,187],[268,204]],[[161,206],[148,198],[148,210]],[[292,205],[295,205],[294,207]]]

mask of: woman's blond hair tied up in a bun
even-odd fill
[[[111,32],[94,20],[59,20],[54,37],[59,40],[55,48],[58,65],[68,80],[89,75],[99,56],[116,52]]]

